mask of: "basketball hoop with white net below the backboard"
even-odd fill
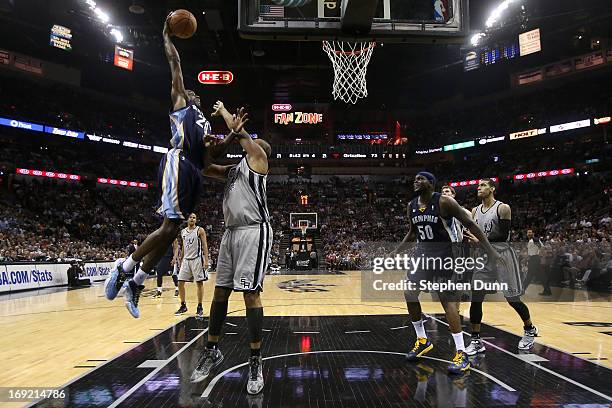
[[[334,67],[334,99],[355,104],[368,96],[366,74],[375,42],[323,41],[323,50]]]

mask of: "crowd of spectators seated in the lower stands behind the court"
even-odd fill
[[[269,182],[274,255],[282,259],[280,253],[286,249],[280,243],[290,233],[288,214],[316,212],[321,258],[336,268],[367,267],[373,256],[391,250],[406,234],[410,186],[407,179]],[[159,224],[153,214],[153,189],[28,179],[15,180],[11,193],[13,201],[0,206],[0,261],[4,262],[115,259],[125,255],[132,239],[141,242]],[[304,194],[309,196],[307,207],[298,204]],[[213,264],[223,233],[222,196],[221,183],[207,183],[196,211],[208,234]],[[590,259],[585,251],[596,248],[604,264],[611,259],[612,186],[605,174],[502,183],[497,198],[511,205],[512,241],[524,242],[526,230],[533,229],[545,242],[556,244],[557,250],[574,254],[572,268],[567,269],[573,279],[580,271],[578,260]],[[457,200],[466,208],[477,205],[474,188],[458,189]],[[564,246],[576,243],[597,247]]]

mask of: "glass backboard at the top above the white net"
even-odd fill
[[[347,1],[359,0],[310,0],[302,7],[239,0],[238,31],[258,40],[405,43],[463,43],[468,35],[468,0],[377,0],[372,29],[359,37],[342,31]]]

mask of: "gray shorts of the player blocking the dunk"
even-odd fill
[[[237,292],[262,291],[271,250],[268,223],[226,229],[219,247],[216,286]]]

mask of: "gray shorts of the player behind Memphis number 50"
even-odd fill
[[[505,283],[507,284],[507,290],[503,291],[505,297],[522,296],[525,291],[516,251],[507,244],[500,246],[498,243],[493,243],[493,247],[499,253],[500,260],[496,264],[492,264],[491,261],[487,260],[484,268],[474,269],[472,287],[474,287],[477,280],[485,283]]]

